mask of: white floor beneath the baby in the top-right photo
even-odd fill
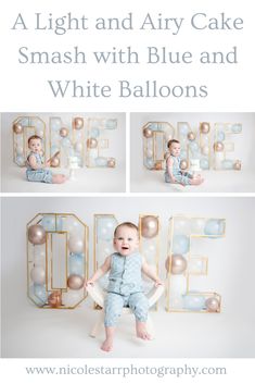
[[[255,170],[204,171],[200,186],[171,185],[164,182],[164,171],[143,170],[131,174],[132,193],[254,193]]]

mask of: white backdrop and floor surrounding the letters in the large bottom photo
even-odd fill
[[[137,222],[139,213],[160,215],[163,280],[171,215],[226,218],[226,238],[208,243],[208,276],[196,286],[219,293],[222,312],[167,313],[163,297],[152,313],[156,339],[137,342],[133,324],[123,319],[115,350],[105,356],[99,348],[103,334],[88,336],[97,314],[89,299],[75,310],[42,310],[26,297],[26,223],[38,212],[75,213],[89,225],[90,273],[94,213],[114,213],[119,222]],[[254,357],[254,198],[2,198],[3,357]]]

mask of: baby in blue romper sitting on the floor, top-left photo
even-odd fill
[[[41,137],[34,135],[28,138],[30,152],[27,157],[26,177],[28,182],[61,184],[66,181],[65,175],[53,175],[46,166],[50,166],[51,159],[43,164]]]

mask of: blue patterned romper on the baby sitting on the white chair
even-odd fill
[[[145,322],[149,301],[142,290],[142,257],[139,252],[122,256],[117,252],[111,257],[110,283],[105,298],[105,326],[115,326],[123,307],[129,307],[136,319]]]

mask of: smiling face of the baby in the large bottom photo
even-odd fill
[[[115,250],[122,256],[129,256],[138,249],[139,238],[136,228],[119,226],[113,240]]]

